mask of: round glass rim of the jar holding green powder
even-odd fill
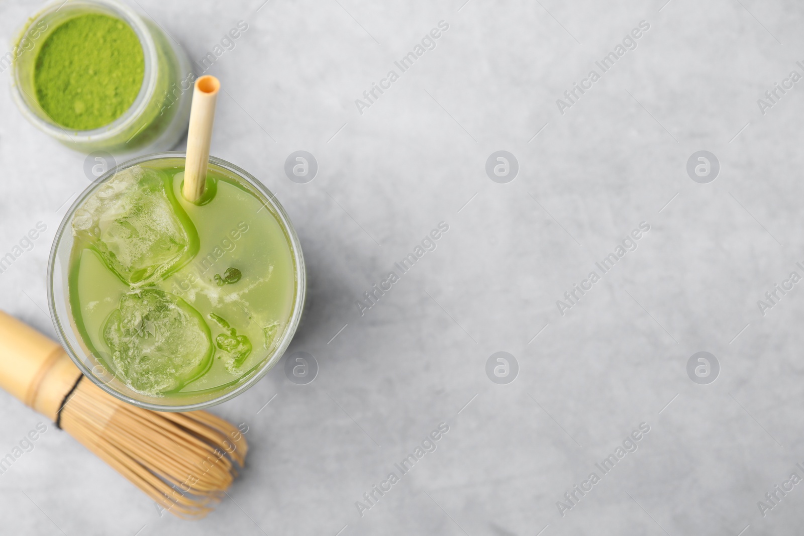
[[[63,0],[48,2],[35,15],[28,18],[27,23],[18,33],[17,44],[14,48],[18,46],[19,41],[23,39],[31,27],[35,27],[43,18],[61,10],[64,3]],[[154,92],[156,92],[158,79],[157,48],[145,21],[140,15],[129,8],[129,6],[117,0],[73,0],[69,2],[69,9],[80,9],[82,7],[91,9],[97,6],[105,8],[105,11],[112,11],[117,18],[121,18],[124,23],[128,24],[134,31],[134,34],[137,35],[140,46],[142,46],[145,67],[142,76],[142,86],[140,87],[140,91],[137,92],[137,97],[134,99],[131,106],[129,106],[120,117],[117,117],[117,119],[109,123],[109,125],[103,125],[91,130],[68,129],[53,120],[47,121],[42,117],[43,115],[47,117],[47,113],[39,106],[36,97],[28,95],[20,84],[23,73],[19,72],[19,63],[16,58],[14,58],[14,64],[11,69],[11,94],[14,96],[18,108],[23,111],[27,120],[31,121],[36,128],[62,142],[101,142],[119,135],[124,129],[127,129],[137,117],[142,117],[151,98],[154,96]],[[23,93],[25,94],[23,95]],[[39,107],[39,111],[31,108],[31,102]],[[136,135],[136,133],[134,135]]]

